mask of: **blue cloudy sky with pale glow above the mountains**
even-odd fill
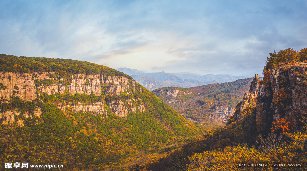
[[[150,72],[264,66],[307,48],[307,0],[1,0],[0,54]]]

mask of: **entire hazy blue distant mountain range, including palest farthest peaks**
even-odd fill
[[[193,71],[195,73],[180,72],[173,74],[165,73],[163,71],[148,73],[130,68],[118,68],[116,70],[130,75],[135,81],[143,85],[146,89],[152,91],[161,87],[173,86],[188,88],[212,83],[233,82],[242,78],[251,78],[255,74],[261,76],[262,69],[263,66],[253,66],[250,68],[237,66],[231,69],[200,70]]]

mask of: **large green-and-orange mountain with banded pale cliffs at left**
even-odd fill
[[[199,129],[130,76],[71,59],[0,55],[0,167],[128,169]]]

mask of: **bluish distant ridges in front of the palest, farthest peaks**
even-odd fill
[[[240,78],[246,78],[242,76],[231,76],[227,74],[220,75],[196,75],[192,73],[146,73],[144,71],[132,70],[130,68],[118,68],[117,70],[131,75],[136,82],[143,85],[148,90],[161,87],[194,87],[199,85],[206,85],[212,83],[232,82]]]

